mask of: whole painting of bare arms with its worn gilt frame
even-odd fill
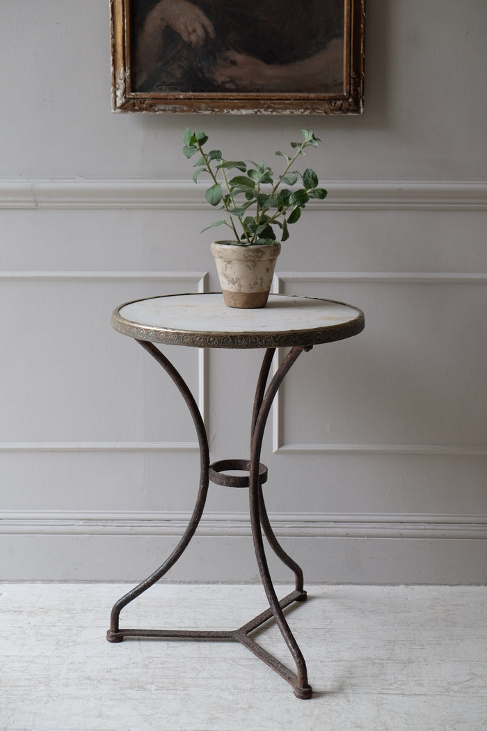
[[[365,0],[110,0],[118,112],[361,114]]]

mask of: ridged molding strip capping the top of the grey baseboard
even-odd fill
[[[190,512],[0,511],[0,534],[180,536]],[[487,540],[487,515],[339,515],[270,513],[276,535],[286,537]],[[250,536],[247,512],[207,512],[199,536]]]

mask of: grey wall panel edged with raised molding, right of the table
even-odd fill
[[[487,274],[280,273],[274,289],[345,298],[367,313],[367,342],[317,346],[289,374],[276,451],[487,455]],[[286,406],[306,418],[286,421]]]

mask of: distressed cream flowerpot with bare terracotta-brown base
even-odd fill
[[[214,241],[211,251],[225,304],[229,307],[264,307],[280,243],[239,246],[231,241]]]

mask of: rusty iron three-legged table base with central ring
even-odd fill
[[[264,437],[264,429],[266,426],[267,417],[274,401],[275,395],[280,384],[283,382],[285,374],[288,373],[289,369],[296,361],[297,357],[301,355],[303,350],[310,350],[312,346],[300,346],[295,345],[288,352],[288,355],[283,360],[283,363],[277,368],[276,373],[272,377],[269,386],[266,388],[267,380],[269,378],[269,371],[272,364],[272,358],[275,353],[275,348],[266,349],[264,360],[261,366],[261,371],[258,376],[258,382],[256,387],[256,395],[253,404],[253,416],[252,416],[252,429],[251,429],[251,440],[250,440],[250,461],[245,460],[222,460],[215,462],[210,465],[210,450],[208,447],[207,433],[204,428],[202,415],[199,412],[199,408],[196,401],[191,394],[188,386],[186,385],[183,378],[177,372],[172,363],[156,348],[151,342],[138,340],[147,352],[150,353],[158,363],[164,368],[167,374],[175,382],[175,385],[180,390],[183,398],[188,405],[188,409],[191,412],[193,423],[196,427],[196,433],[199,443],[200,452],[200,480],[199,480],[199,493],[196,499],[196,505],[191,515],[191,520],[188,523],[187,528],[177,544],[175,550],[172,551],[169,558],[166,559],[153,574],[147,579],[139,583],[135,588],[129,591],[127,594],[118,599],[112,609],[110,629],[107,632],[107,640],[112,643],[121,642],[123,637],[166,637],[166,638],[180,638],[180,639],[207,639],[207,640],[230,640],[239,642],[245,645],[253,654],[265,662],[272,670],[281,675],[285,681],[291,683],[294,688],[294,695],[298,698],[307,699],[312,695],[312,689],[307,682],[307,670],[304,657],[298,644],[294,638],[293,633],[288,625],[288,622],[284,616],[283,610],[293,602],[304,602],[307,598],[306,591],[303,589],[303,573],[302,569],[296,564],[291,556],[285,552],[283,547],[277,541],[272,526],[269,522],[267,515],[266,506],[264,503],[264,496],[262,493],[262,485],[267,479],[267,468],[260,463],[261,457],[261,446],[262,439]],[[248,471],[248,476],[234,476],[224,474],[225,471],[229,470],[243,470]],[[204,504],[207,497],[208,485],[210,480],[218,485],[226,485],[232,488],[249,488],[250,495],[250,524],[252,527],[253,545],[256,551],[256,559],[258,569],[261,575],[262,585],[266,592],[266,597],[269,602],[269,608],[251,619],[247,624],[239,627],[239,629],[231,631],[218,631],[218,630],[164,630],[164,629],[120,629],[119,618],[120,612],[123,607],[126,607],[131,601],[137,598],[140,594],[146,591],[150,586],[153,586],[161,577],[163,577],[169,569],[174,566],[176,561],[183,554],[185,548],[187,548],[191,538],[193,537],[196,528],[198,527],[199,520],[202,518]],[[269,574],[269,567],[267,565],[266,554],[264,550],[264,539],[262,531],[266,536],[269,545],[274,550],[276,556],[283,561],[283,564],[290,568],[294,572],[295,576],[295,591],[288,594],[283,599],[277,599],[275,588],[272,584],[272,579]],[[288,670],[285,665],[277,660],[273,655],[269,654],[261,645],[258,645],[254,640],[249,637],[250,632],[257,629],[259,626],[264,624],[269,619],[274,618],[277,626],[280,629],[281,635],[285,640],[288,649],[291,652],[291,656],[296,664],[296,673]]]

